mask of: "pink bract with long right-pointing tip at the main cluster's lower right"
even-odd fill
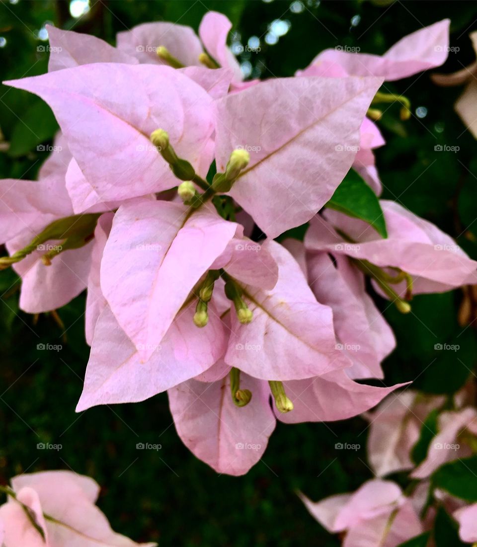
[[[405,385],[368,386],[351,380],[346,370],[284,382],[294,409],[287,414],[277,414],[277,417],[286,423],[346,420],[373,408],[394,389]]]

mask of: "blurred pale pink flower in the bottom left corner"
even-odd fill
[[[115,533],[96,507],[100,487],[70,471],[19,475],[0,507],[5,547],[154,547]]]

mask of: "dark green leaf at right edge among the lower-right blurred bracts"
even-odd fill
[[[434,488],[442,488],[452,496],[477,502],[477,456],[442,465],[431,480]]]

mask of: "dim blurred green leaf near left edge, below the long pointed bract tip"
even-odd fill
[[[40,143],[53,138],[57,130],[58,124],[48,104],[35,101],[14,126],[8,154],[12,158],[24,156]]]

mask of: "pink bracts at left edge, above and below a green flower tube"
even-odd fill
[[[61,142],[57,138],[55,143]],[[73,214],[65,188],[65,162],[68,153],[61,146],[42,166],[39,181],[0,181],[0,225],[2,242],[10,255],[30,244],[48,224]],[[20,308],[27,313],[41,313],[64,306],[86,287],[91,244],[71,249],[45,266],[42,255],[61,241],[38,246],[13,268],[22,278]]]

